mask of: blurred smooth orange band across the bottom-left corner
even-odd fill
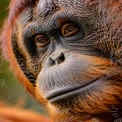
[[[29,110],[0,106],[0,122],[53,122],[46,116]]]

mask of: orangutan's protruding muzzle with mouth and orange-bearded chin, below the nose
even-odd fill
[[[109,111],[108,106],[116,104],[116,96],[121,99],[122,93],[121,76],[118,81],[112,79],[115,73],[120,75],[121,70],[107,59],[70,54],[60,65],[44,64],[36,82],[36,97],[54,118]],[[98,80],[91,82],[94,79]]]

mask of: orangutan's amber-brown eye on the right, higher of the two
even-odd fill
[[[74,23],[66,23],[61,28],[62,36],[70,37],[74,36],[79,32],[79,27]]]

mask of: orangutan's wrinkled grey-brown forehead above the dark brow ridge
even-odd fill
[[[24,9],[19,22],[26,25],[30,17],[33,26],[40,25],[46,30],[49,30],[47,27],[57,28],[67,21],[83,22],[85,20],[85,22],[89,21],[89,24],[93,25],[93,20],[97,19],[97,14],[96,11],[92,11],[92,8],[95,9],[96,7],[89,6],[84,1],[87,0],[39,0],[35,7],[29,6],[28,10],[27,8]]]

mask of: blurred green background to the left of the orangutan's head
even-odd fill
[[[7,16],[9,0],[0,0],[0,28]],[[9,63],[3,59],[0,50],[0,102],[14,105],[24,109],[30,109],[45,114],[45,111],[25,91],[12,73]]]

